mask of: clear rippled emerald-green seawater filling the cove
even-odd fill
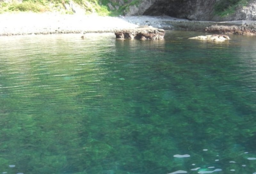
[[[0,173],[255,173],[256,37],[202,34],[0,37]]]

